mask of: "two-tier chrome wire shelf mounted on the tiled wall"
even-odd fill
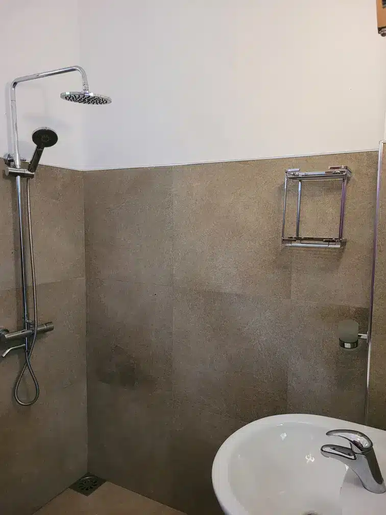
[[[301,172],[300,168],[292,168],[286,170],[284,184],[284,208],[283,208],[283,228],[282,228],[282,245],[286,247],[317,247],[317,248],[334,248],[340,249],[346,245],[343,238],[344,226],[344,210],[346,203],[347,182],[352,173],[347,166],[330,166],[327,171],[305,171]],[[340,201],[340,221],[338,237],[319,238],[319,237],[303,237],[300,235],[300,209],[302,201],[302,183],[307,181],[323,181],[337,180],[341,181],[342,194]],[[294,236],[285,235],[286,227],[286,208],[288,181],[297,181],[297,209],[296,209],[296,231]]]

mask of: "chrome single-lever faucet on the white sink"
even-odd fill
[[[341,436],[350,442],[350,447],[323,445],[320,452],[326,458],[335,458],[354,471],[366,490],[373,493],[386,491],[383,477],[375,456],[373,442],[359,431],[337,429],[327,436]]]

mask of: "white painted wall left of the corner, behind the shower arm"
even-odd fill
[[[15,77],[78,64],[78,0],[2,0],[0,3],[0,156],[11,151],[8,130],[8,89]],[[58,143],[47,148],[42,162],[76,168],[84,162],[82,109],[60,98],[60,93],[81,87],[80,75],[69,73],[34,80],[16,87],[17,121],[21,154],[30,159],[34,150],[31,133],[38,127],[51,127]]]

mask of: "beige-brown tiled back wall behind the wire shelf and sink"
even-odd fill
[[[283,248],[285,169],[340,164],[347,247]],[[363,152],[85,174],[91,472],[212,515],[212,460],[238,427],[363,421],[366,351],[336,330],[366,331],[376,172]],[[336,190],[315,195],[307,231],[336,214]]]

